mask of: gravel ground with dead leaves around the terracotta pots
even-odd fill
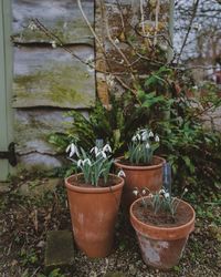
[[[116,226],[113,254],[103,259],[88,259],[76,250],[74,264],[61,274],[44,273],[46,232],[71,229],[69,209],[63,186],[44,196],[21,196],[20,186],[33,181],[13,183],[11,192],[0,195],[0,276],[74,276],[74,277],[123,277],[123,276],[221,276],[220,206],[200,209],[196,229],[187,244],[183,257],[170,271],[159,271],[143,263],[135,233],[123,214]],[[46,183],[45,179],[39,183]]]

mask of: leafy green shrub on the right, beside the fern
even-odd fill
[[[158,153],[172,166],[172,189],[188,186],[200,193],[221,184],[221,135],[203,123],[221,99],[208,83],[188,98],[193,84],[188,74],[162,66],[147,78],[139,100],[149,110],[148,125],[161,137]]]

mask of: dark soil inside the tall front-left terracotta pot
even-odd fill
[[[92,184],[85,182],[83,175],[77,175],[77,177],[72,179],[72,184],[81,187],[109,187],[119,184],[119,178],[116,176],[109,176],[106,183],[104,182],[104,178],[99,178],[98,185],[93,186]]]

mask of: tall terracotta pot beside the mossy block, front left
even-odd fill
[[[106,257],[112,252],[114,228],[124,179],[110,187],[82,187],[75,174],[65,179],[72,228],[77,247],[88,257]]]

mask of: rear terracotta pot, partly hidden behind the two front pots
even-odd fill
[[[123,157],[118,157],[115,166],[125,173],[125,186],[123,191],[123,205],[127,211],[137,197],[133,191],[137,187],[139,191],[147,187],[150,192],[158,192],[162,186],[162,166],[166,161],[162,157],[154,156],[152,165],[136,166],[126,165],[122,162]]]

